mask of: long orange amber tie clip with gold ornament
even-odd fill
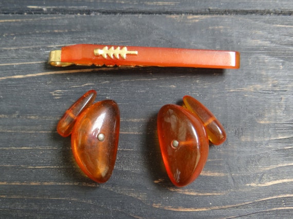
[[[78,44],[50,52],[52,66],[240,67],[236,51]]]

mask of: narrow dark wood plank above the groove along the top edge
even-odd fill
[[[176,0],[125,0],[125,1],[4,1],[0,12],[12,14],[285,14],[292,15],[290,0],[283,1],[176,1]]]

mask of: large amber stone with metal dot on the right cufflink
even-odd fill
[[[190,184],[202,172],[209,153],[202,122],[184,107],[170,104],[160,109],[157,129],[171,182],[178,187]]]

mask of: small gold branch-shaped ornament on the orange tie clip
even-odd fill
[[[95,49],[94,50],[95,55],[102,55],[104,58],[107,58],[107,55],[109,57],[111,57],[112,59],[114,58],[113,55],[119,59],[119,55],[121,56],[121,58],[125,59],[126,55],[137,55],[138,52],[137,51],[128,51],[127,47],[123,47],[122,49],[120,49],[120,47],[118,46],[116,49],[114,49],[114,47],[110,47],[108,49],[107,46],[105,46],[103,49]]]

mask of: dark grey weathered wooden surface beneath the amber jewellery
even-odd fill
[[[284,1],[0,1],[1,218],[292,218],[293,5]],[[239,70],[57,68],[50,50],[114,44],[241,52]],[[96,184],[56,132],[87,90],[114,99],[110,180]],[[197,180],[174,187],[156,115],[191,95],[227,131]]]

